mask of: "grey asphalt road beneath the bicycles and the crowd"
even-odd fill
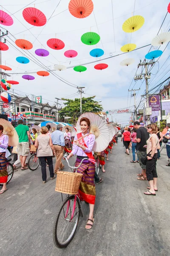
[[[72,159],[73,161],[74,159]],[[138,163],[119,140],[100,171],[94,227],[85,230],[88,205],[82,203],[76,236],[65,249],[54,246],[54,218],[61,203],[56,180],[42,184],[40,167],[14,172],[0,195],[0,256],[170,256],[170,167],[166,153],[157,161],[158,192],[147,196],[147,181],[136,180]],[[65,170],[66,168],[65,164]]]

